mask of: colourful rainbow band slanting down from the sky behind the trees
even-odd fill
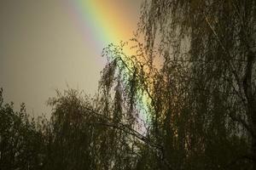
[[[125,14],[119,3],[107,0],[67,0],[66,3],[84,41],[91,42],[85,47],[89,52],[102,50],[110,43],[128,41],[132,37],[134,28],[131,23],[134,23],[134,18]],[[143,94],[143,104],[139,106],[143,120],[147,117],[143,110],[148,107],[148,102],[147,94]]]

